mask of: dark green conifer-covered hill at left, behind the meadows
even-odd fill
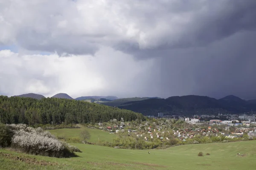
[[[4,124],[94,123],[121,117],[125,121],[145,119],[140,113],[89,102],[0,96],[0,122]]]

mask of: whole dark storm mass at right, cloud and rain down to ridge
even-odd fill
[[[145,87],[153,96],[198,94],[221,98],[234,94],[256,98],[256,1],[222,2],[221,6],[217,1],[207,4],[209,11],[195,15],[176,42],[166,34],[155,48],[119,44],[117,49],[137,59],[156,57],[150,73],[154,79],[148,79]]]

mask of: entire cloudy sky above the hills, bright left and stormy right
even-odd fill
[[[0,0],[0,95],[256,99],[256,0]]]

